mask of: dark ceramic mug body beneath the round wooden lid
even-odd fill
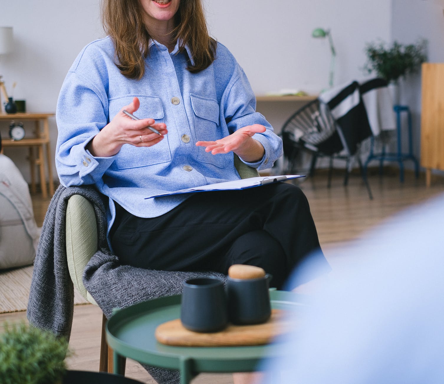
[[[255,279],[227,278],[228,314],[231,323],[246,325],[270,319],[271,275]]]

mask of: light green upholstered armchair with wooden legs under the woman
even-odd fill
[[[234,155],[234,166],[241,178],[258,176],[258,171],[244,164]],[[94,208],[91,203],[80,195],[73,195],[68,201],[66,212],[66,254],[69,274],[75,289],[89,303],[97,305],[83,285],[83,271],[97,251],[97,225]],[[105,338],[106,318],[102,318],[102,341],[100,346],[100,372],[112,372],[112,351]],[[123,360],[122,364],[125,363]],[[124,368],[123,368],[124,369]]]

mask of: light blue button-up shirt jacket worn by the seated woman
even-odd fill
[[[108,230],[115,217],[113,201],[138,217],[157,217],[189,194],[145,199],[151,195],[239,179],[233,153],[212,155],[195,146],[196,141],[217,140],[246,125],[262,124],[266,132],[254,138],[265,154],[259,162],[246,164],[267,169],[282,154],[281,139],[255,112],[248,79],[224,45],[218,43],[216,59],[199,73],[186,70],[193,58],[188,47],[179,52],[178,44],[169,53],[166,46],[151,40],[146,63],[141,80],[128,79],[115,65],[111,38],[95,40],[76,58],[59,94],[60,182],[66,187],[95,184],[108,196]],[[135,115],[165,123],[166,137],[148,148],[124,144],[115,156],[92,156],[85,146],[135,96],[140,100]],[[179,103],[173,104],[173,98]],[[184,134],[190,141],[181,139]]]

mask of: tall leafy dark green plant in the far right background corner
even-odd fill
[[[401,76],[415,73],[421,63],[427,60],[427,40],[417,44],[403,45],[394,41],[391,46],[383,42],[369,43],[365,46],[367,62],[365,69],[376,72],[388,82],[396,82]]]

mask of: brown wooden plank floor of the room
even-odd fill
[[[396,212],[444,192],[444,178],[434,178],[432,186],[426,188],[423,177],[416,180],[412,174],[407,173],[401,184],[397,170],[389,169],[383,177],[370,175],[369,182],[374,196],[370,200],[359,175],[352,175],[349,186],[345,187],[343,175],[337,172],[331,188],[327,188],[324,172],[298,183],[309,200],[321,247],[333,267],[335,260],[329,255],[333,249],[344,242],[360,238],[366,230]],[[33,203],[36,220],[41,225],[49,199],[43,200],[36,195],[33,196]],[[70,341],[75,354],[67,360],[69,368],[98,370],[101,316],[99,308],[93,305],[75,306]],[[25,312],[0,314],[0,332],[4,320],[16,322],[20,319],[26,319]],[[139,364],[131,361],[127,363],[126,376],[144,383],[155,383]],[[232,382],[230,374],[202,374],[193,381],[194,384]]]

